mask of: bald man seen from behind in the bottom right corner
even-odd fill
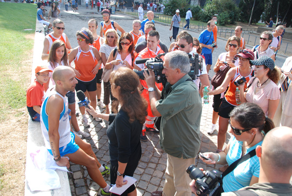
[[[262,146],[256,147],[260,169],[258,183],[237,191],[242,196],[292,196],[292,129],[276,127],[269,131]],[[237,196],[233,192],[221,196]]]

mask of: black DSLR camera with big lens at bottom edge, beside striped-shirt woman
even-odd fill
[[[194,164],[186,169],[190,178],[196,180],[198,196],[216,196],[220,191],[220,183],[222,183],[221,174],[218,170],[209,170],[205,174],[196,168]]]

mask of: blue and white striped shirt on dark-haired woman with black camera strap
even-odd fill
[[[226,156],[228,165],[241,157],[242,141],[237,141],[234,136],[230,138],[230,149]],[[246,154],[254,150],[256,146],[261,145],[262,141],[258,142],[251,148],[246,149]],[[245,186],[249,186],[252,176],[259,176],[259,160],[254,156],[237,165],[237,167],[223,178],[224,192],[237,191]]]

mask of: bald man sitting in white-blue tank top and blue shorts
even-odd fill
[[[68,112],[68,91],[74,91],[78,81],[72,68],[58,66],[53,72],[55,87],[48,89],[40,111],[40,123],[45,146],[56,164],[69,168],[67,157],[75,164],[84,165],[92,180],[101,188],[101,195],[110,195],[110,185],[103,174],[110,174],[106,165],[101,165],[91,145],[71,132]],[[80,147],[80,148],[79,148]]]

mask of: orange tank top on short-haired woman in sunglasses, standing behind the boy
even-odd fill
[[[76,77],[81,81],[91,81],[95,78],[95,74],[92,74],[91,71],[98,63],[98,60],[95,59],[95,56],[92,51],[92,46],[90,46],[89,51],[84,52],[78,47],[78,53],[74,59],[75,69],[81,74],[80,77]]]

